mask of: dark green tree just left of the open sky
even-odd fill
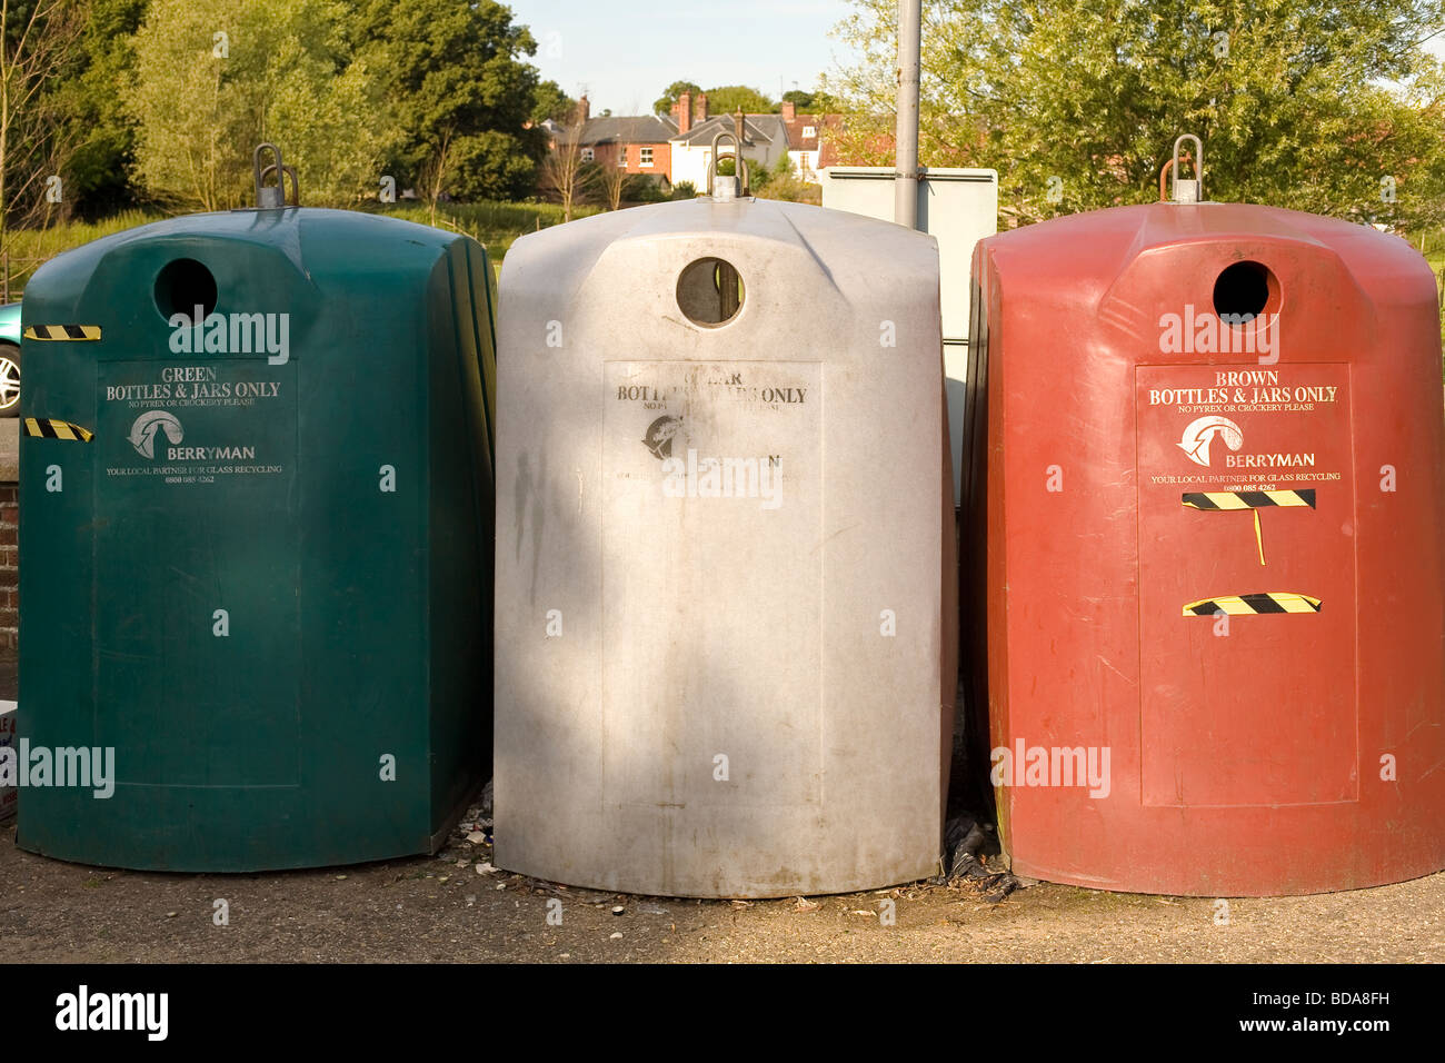
[[[399,184],[435,171],[445,145],[454,195],[507,200],[533,189],[546,137],[527,129],[539,106],[538,72],[523,59],[536,54],[536,42],[512,23],[507,7],[370,0],[357,26],[361,54],[389,75],[387,95],[405,130],[392,158]]]

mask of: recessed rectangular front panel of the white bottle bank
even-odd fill
[[[603,401],[607,798],[818,801],[822,366],[608,362]]]

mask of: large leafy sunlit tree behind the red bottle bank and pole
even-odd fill
[[[892,162],[896,4],[853,7],[838,33],[863,59],[825,87],[840,146]],[[926,0],[920,159],[997,168],[1019,224],[1157,198],[1198,133],[1211,198],[1439,224],[1445,81],[1422,43],[1441,22],[1441,0]]]

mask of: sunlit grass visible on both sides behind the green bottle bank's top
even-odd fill
[[[373,207],[373,211],[377,208]],[[595,214],[597,207],[577,207],[574,218]],[[386,214],[431,224],[431,211],[422,204],[397,204],[386,207]],[[103,236],[121,233],[147,221],[159,221],[163,214],[130,210],[103,221],[68,221],[48,229],[6,230],[4,253],[9,256],[10,299],[19,299],[20,291],[46,260],[61,252],[79,247]],[[467,202],[438,204],[436,227],[461,231],[487,247],[493,266],[501,263],[512,243],[525,233],[562,224],[562,208],[551,202]]]

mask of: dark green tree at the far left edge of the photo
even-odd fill
[[[51,90],[84,25],[79,6],[65,0],[0,0],[0,243],[12,218],[51,213],[53,178],[64,195],[74,130]]]

